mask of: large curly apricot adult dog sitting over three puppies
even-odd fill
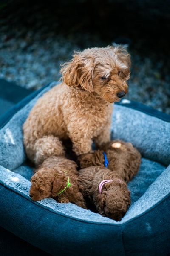
[[[113,102],[128,90],[130,55],[121,46],[75,52],[61,69],[62,83],[45,93],[23,125],[28,158],[39,165],[51,155],[64,155],[63,139],[84,154],[110,141]]]

